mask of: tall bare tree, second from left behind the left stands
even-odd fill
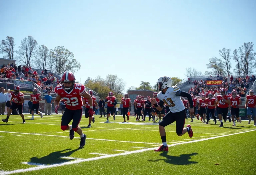
[[[28,36],[28,38],[24,38],[21,41],[21,45],[18,48],[16,59],[29,66],[31,59],[37,52],[37,41],[32,36]]]

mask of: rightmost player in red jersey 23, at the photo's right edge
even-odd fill
[[[249,91],[249,95],[246,95],[245,109],[247,108],[247,117],[249,119],[248,124],[251,123],[251,115],[254,118],[254,126],[256,126],[256,95],[253,90]]]

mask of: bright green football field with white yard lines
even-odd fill
[[[95,116],[80,122],[87,135],[79,149],[80,136],[69,139],[69,131],[60,129],[61,115],[35,117],[22,124],[20,116],[0,121],[0,174],[256,174],[256,127],[253,121],[237,123],[197,120],[191,124],[194,136],[179,137],[175,123],[166,127],[169,152],[154,152],[161,145],[158,123],[128,123],[117,116],[109,123]],[[5,119],[1,116],[0,119]],[[147,117],[148,120],[148,117]]]

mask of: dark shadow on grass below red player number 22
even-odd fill
[[[77,150],[79,150],[80,148],[71,150],[69,149],[65,149],[65,150],[61,150],[61,151],[55,151],[50,153],[47,156],[38,158],[38,157],[32,157],[30,158],[30,162],[31,163],[39,163],[39,164],[44,164],[44,165],[51,165],[51,164],[56,164],[56,163],[63,163],[63,162],[69,162],[71,160],[74,159],[63,159],[61,157],[69,157],[72,153],[76,152]]]

